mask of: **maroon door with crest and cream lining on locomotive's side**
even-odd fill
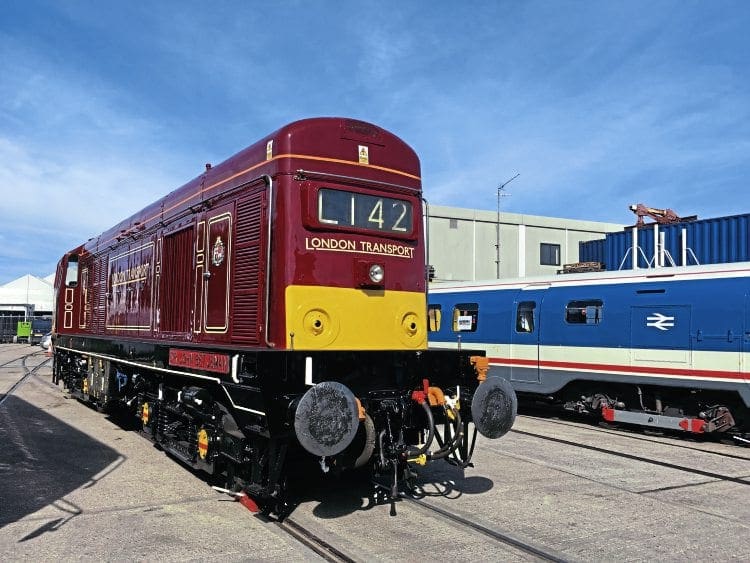
[[[196,245],[196,277],[202,283],[202,326],[206,334],[227,336],[229,332],[229,284],[232,275],[232,223],[234,204],[207,212],[199,224]],[[200,231],[204,231],[202,235]]]

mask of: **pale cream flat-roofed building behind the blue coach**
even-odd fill
[[[429,258],[434,281],[555,274],[580,261],[579,243],[624,225],[430,205]]]

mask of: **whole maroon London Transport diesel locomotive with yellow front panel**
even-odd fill
[[[299,456],[393,494],[467,464],[515,395],[480,354],[427,349],[422,203],[395,135],[287,125],[63,256],[54,377],[269,511]]]

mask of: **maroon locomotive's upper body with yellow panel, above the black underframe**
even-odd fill
[[[395,136],[288,126],[69,253],[81,285],[59,296],[60,333],[424,349],[420,198],[419,161]],[[381,283],[367,275],[375,264]]]

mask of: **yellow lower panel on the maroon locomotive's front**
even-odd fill
[[[423,293],[338,287],[286,289],[286,344],[295,350],[424,350]]]

